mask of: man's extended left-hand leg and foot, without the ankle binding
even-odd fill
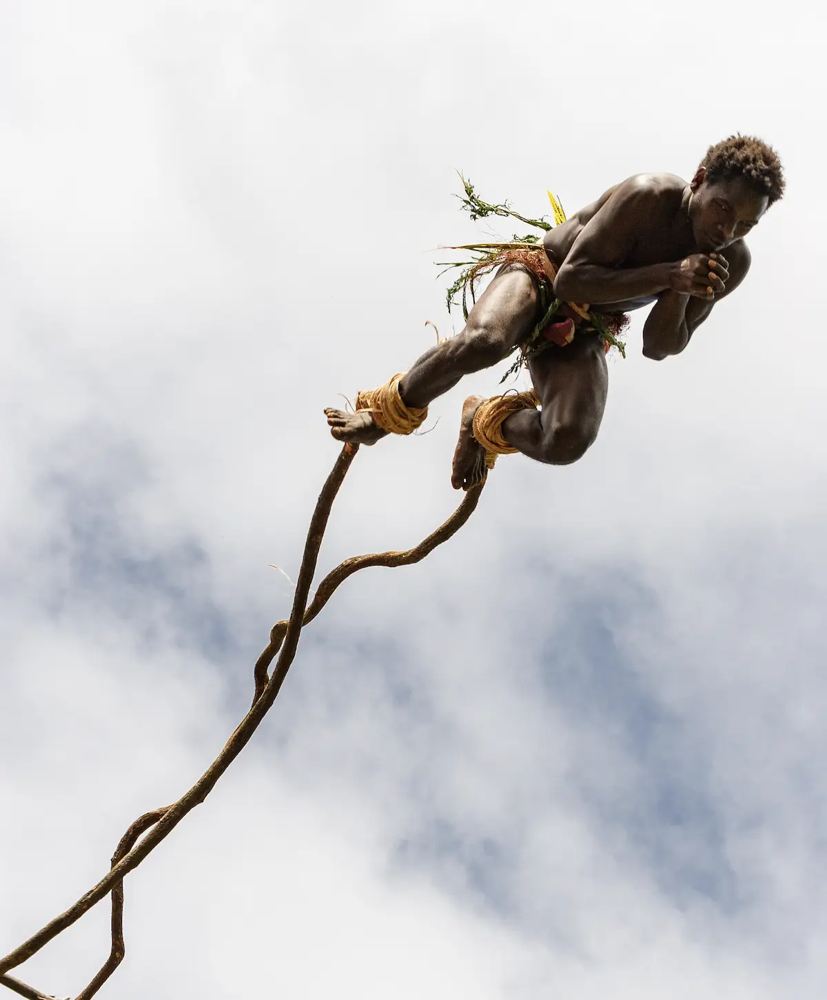
[[[537,304],[536,283],[525,271],[498,274],[471,309],[464,330],[425,351],[406,373],[400,382],[406,406],[427,406],[452,389],[463,375],[501,361],[533,327]],[[346,413],[327,409],[325,413],[338,441],[375,444],[385,437],[370,410]]]

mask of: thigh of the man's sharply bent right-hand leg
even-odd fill
[[[543,428],[576,429],[593,441],[608,390],[602,338],[578,332],[565,347],[549,347],[531,359],[528,369],[542,404]]]

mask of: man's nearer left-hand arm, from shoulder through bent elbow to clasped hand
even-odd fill
[[[661,194],[651,180],[638,176],[618,184],[574,240],[554,280],[554,295],[565,302],[600,305],[668,289],[704,298],[710,287],[722,291],[702,254],[645,267],[621,266],[658,211]]]

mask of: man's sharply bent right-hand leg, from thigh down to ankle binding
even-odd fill
[[[581,458],[597,437],[606,405],[608,371],[603,340],[578,333],[529,363],[542,411],[521,410],[502,423],[502,435],[523,455],[551,465]]]

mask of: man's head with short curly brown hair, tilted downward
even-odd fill
[[[733,135],[709,147],[690,187],[689,218],[698,246],[723,250],[782,197],[784,171],[771,146]]]

